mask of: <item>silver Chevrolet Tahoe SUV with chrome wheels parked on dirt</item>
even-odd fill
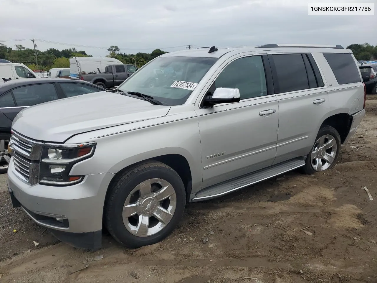
[[[73,246],[100,248],[103,227],[127,247],[150,245],[187,202],[332,168],[364,106],[356,60],[339,45],[171,52],[115,90],[21,111],[9,192]]]

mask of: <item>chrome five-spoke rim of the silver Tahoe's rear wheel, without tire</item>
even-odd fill
[[[311,151],[311,166],[317,172],[328,169],[333,164],[336,153],[336,139],[332,135],[323,135]]]

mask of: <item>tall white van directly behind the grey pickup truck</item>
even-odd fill
[[[79,73],[98,74],[105,71],[106,66],[123,64],[121,61],[110,57],[72,57],[69,59],[70,75],[77,77]]]

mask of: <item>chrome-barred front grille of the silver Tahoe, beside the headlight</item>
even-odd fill
[[[43,143],[12,133],[9,147],[13,157],[12,171],[25,183],[38,183],[40,156]]]

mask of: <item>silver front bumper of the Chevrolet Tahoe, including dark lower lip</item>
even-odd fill
[[[11,158],[7,183],[14,207],[21,206],[59,240],[78,248],[97,249],[101,247],[104,200],[113,176],[112,173],[87,175],[73,186],[31,186],[13,173]]]

